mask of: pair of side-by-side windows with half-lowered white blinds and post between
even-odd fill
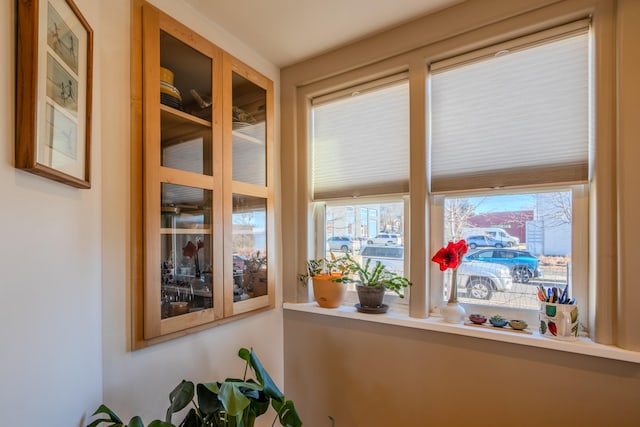
[[[346,72],[343,87],[331,78],[301,88],[298,94],[310,102],[298,116],[309,129],[308,151],[298,158],[307,165],[312,202],[307,257],[333,251],[381,258],[379,249],[365,247],[401,246],[400,264],[414,283],[409,313],[425,317],[437,313],[448,283],[430,258],[448,240],[464,237],[473,252],[492,250],[478,254],[486,261],[465,261],[469,279],[477,284],[493,269],[501,280],[484,289],[464,286],[465,304],[527,319],[536,315],[531,290],[554,277],[545,286],[570,287],[586,313],[589,25],[574,22],[425,60],[422,71],[409,53],[414,69],[406,77],[349,83],[362,81],[364,68],[381,75],[372,65]],[[564,203],[557,209],[567,209],[570,222],[554,224],[552,199]],[[381,222],[383,202],[403,207],[400,228]]]

